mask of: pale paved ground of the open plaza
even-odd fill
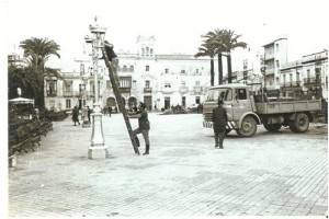
[[[91,128],[54,123],[10,168],[9,216],[326,216],[328,127],[307,134],[259,126],[214,149],[201,114],[149,114],[150,154],[136,155],[121,114],[103,117],[105,145],[88,159]],[[133,128],[137,120],[132,119]],[[144,152],[144,139],[140,152]]]

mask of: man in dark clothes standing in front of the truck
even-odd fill
[[[223,142],[226,135],[227,112],[224,102],[218,100],[218,106],[213,110],[213,124],[215,134],[215,148],[224,149]]]

